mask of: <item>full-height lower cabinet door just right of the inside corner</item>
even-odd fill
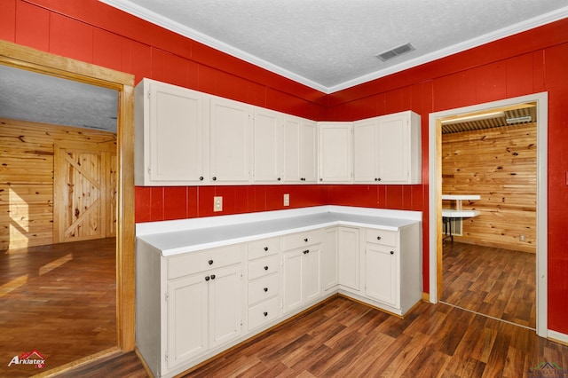
[[[359,290],[360,287],[360,256],[359,228],[339,227],[337,247],[339,250],[339,284]]]

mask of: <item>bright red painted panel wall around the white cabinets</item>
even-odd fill
[[[2,0],[0,38],[38,50],[313,120],[351,121],[414,110],[422,115],[422,185],[250,185],[137,187],[137,222],[344,204],[423,211],[428,278],[428,114],[549,92],[548,327],[568,334],[568,20],[514,35],[332,95],[325,95],[96,0]],[[219,213],[215,213],[219,214]]]

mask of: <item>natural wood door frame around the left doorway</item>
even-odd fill
[[[133,75],[0,41],[0,64],[118,92],[116,137],[116,341],[114,351],[134,349],[134,179]],[[77,366],[101,355],[85,356],[67,364]],[[58,370],[67,368],[62,366]]]

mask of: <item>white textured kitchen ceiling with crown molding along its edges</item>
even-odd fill
[[[568,16],[566,0],[101,1],[326,93]]]

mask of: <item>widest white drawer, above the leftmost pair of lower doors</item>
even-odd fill
[[[241,263],[242,244],[191,252],[168,258],[168,279]]]

